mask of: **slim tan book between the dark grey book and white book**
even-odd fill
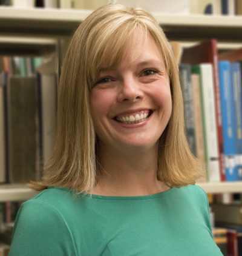
[[[204,157],[204,143],[203,143],[203,119],[201,113],[201,99],[200,99],[200,82],[199,75],[191,75],[191,85],[192,85],[192,99],[194,107],[194,126],[195,126],[195,144],[197,159],[203,166],[205,166]],[[197,182],[205,182],[206,175],[197,180]]]

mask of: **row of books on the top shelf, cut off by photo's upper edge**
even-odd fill
[[[241,0],[0,0],[0,5],[15,7],[74,8],[95,10],[108,3],[142,7],[149,12],[200,13],[205,15],[242,15]]]

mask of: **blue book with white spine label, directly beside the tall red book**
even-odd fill
[[[223,127],[224,166],[226,181],[237,181],[235,167],[234,111],[232,97],[231,64],[218,61],[220,103]]]

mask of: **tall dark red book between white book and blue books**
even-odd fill
[[[223,156],[223,131],[221,121],[221,104],[220,104],[220,88],[218,78],[218,51],[217,40],[211,39],[201,42],[194,47],[183,50],[181,63],[190,63],[192,66],[200,63],[211,63],[214,75],[214,100],[215,100],[215,126],[217,129],[218,153],[219,153],[219,167],[220,167],[220,180],[225,181],[224,170],[224,156]]]

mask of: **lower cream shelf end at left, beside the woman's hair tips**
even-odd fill
[[[0,202],[25,201],[38,194],[24,184],[0,185]]]

